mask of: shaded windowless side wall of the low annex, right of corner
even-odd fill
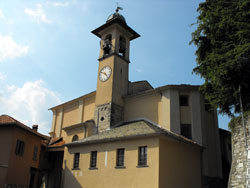
[[[200,150],[180,142],[160,139],[160,188],[200,188]]]

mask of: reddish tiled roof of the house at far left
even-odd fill
[[[20,121],[17,121],[16,119],[14,119],[11,116],[8,116],[8,115],[1,115],[0,116],[0,127],[13,126],[13,125],[16,125],[17,127],[20,127],[22,129],[30,132],[31,134],[39,136],[43,139],[49,139],[48,136],[43,135],[43,134],[33,130],[32,128],[28,127],[27,125],[24,125],[23,123],[21,123]]]

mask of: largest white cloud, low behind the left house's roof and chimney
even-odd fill
[[[52,121],[48,108],[59,103],[58,94],[46,88],[43,80],[6,86],[0,95],[0,115],[10,115],[28,126],[38,124],[39,132],[47,134]]]

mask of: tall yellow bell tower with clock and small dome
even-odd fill
[[[98,132],[109,130],[123,121],[123,97],[128,94],[130,41],[140,35],[116,12],[92,33],[100,41],[96,88],[95,123]]]

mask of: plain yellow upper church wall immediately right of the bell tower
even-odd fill
[[[150,93],[125,99],[124,120],[146,118],[159,125],[162,124],[162,102],[159,93]]]

